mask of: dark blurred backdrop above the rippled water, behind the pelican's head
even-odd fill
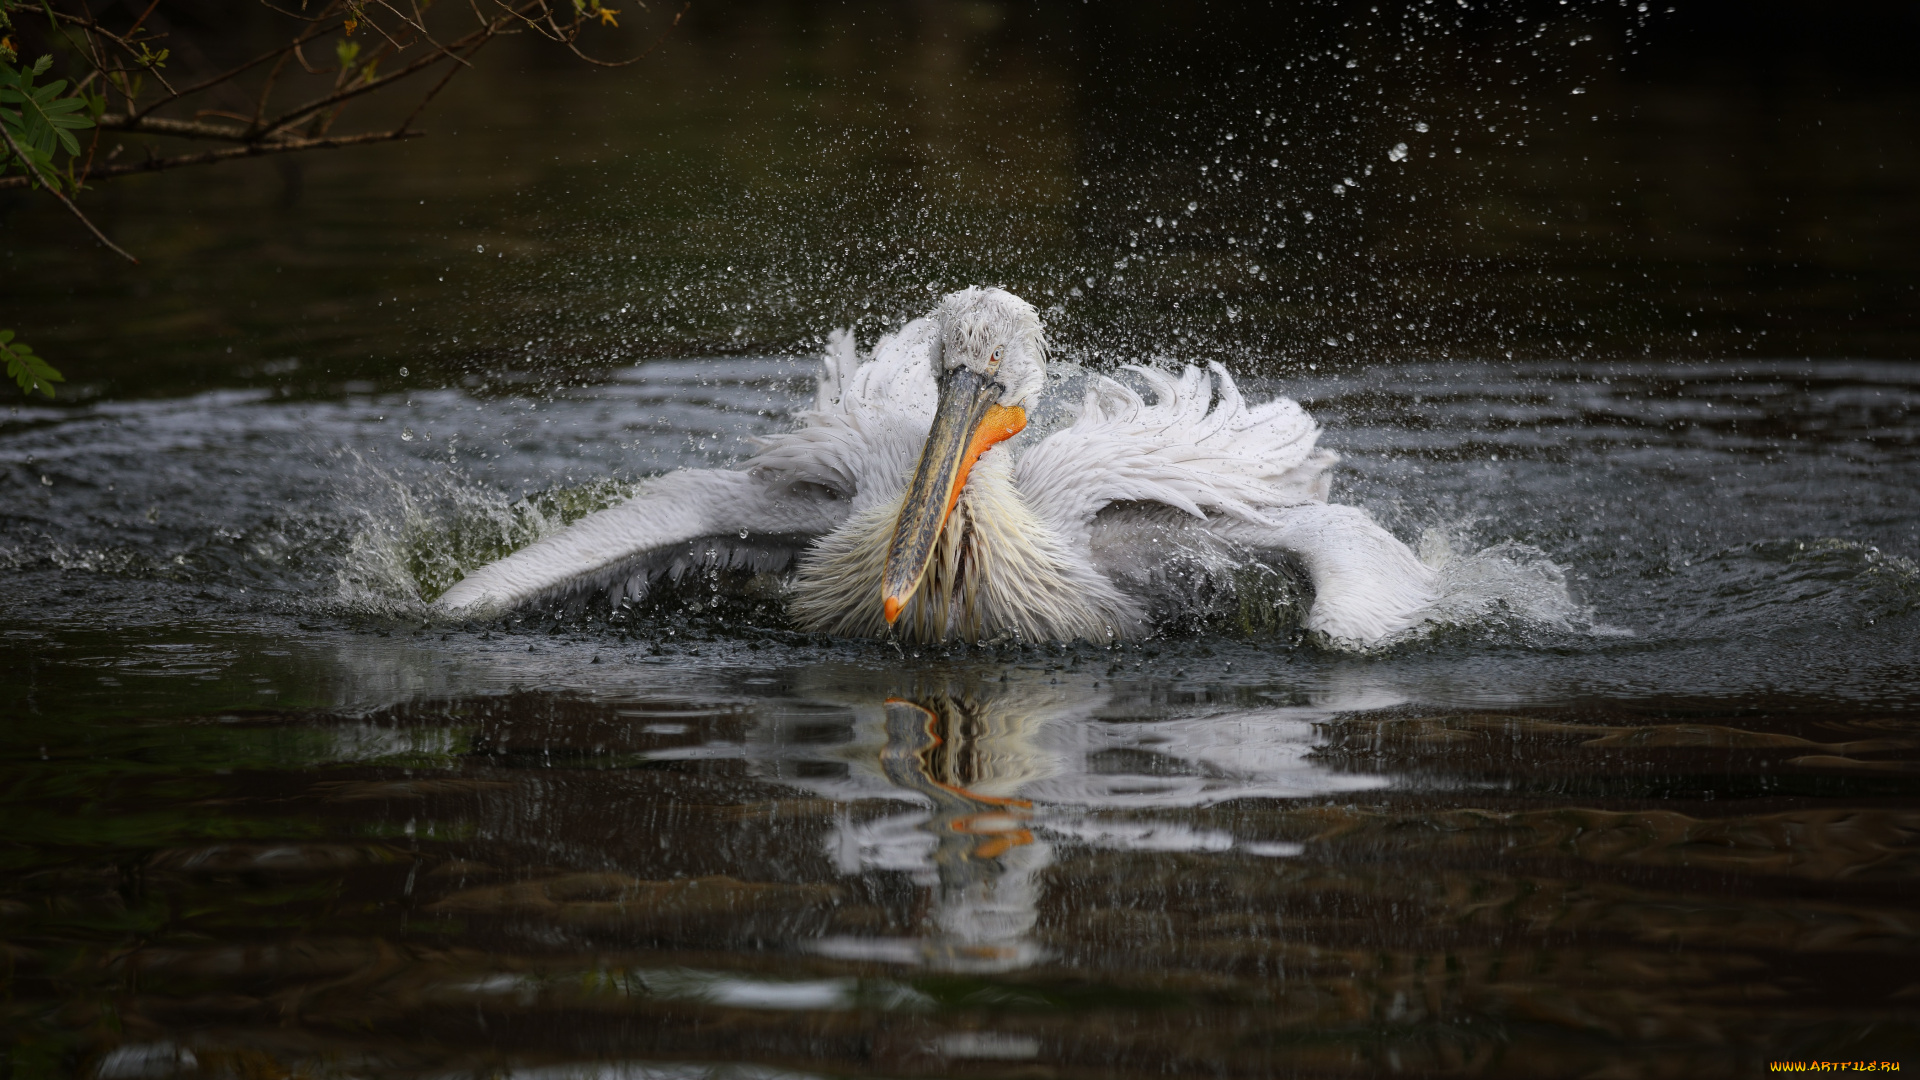
[[[430,138],[86,192],[138,267],[4,192],[0,325],[67,400],[578,382],[973,281],[1092,363],[1920,354],[1920,4],[1640,8],[697,2],[634,69],[499,42]]]

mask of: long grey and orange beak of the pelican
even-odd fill
[[[933,542],[947,527],[947,515],[960,500],[966,475],[989,446],[1004,442],[1027,427],[1027,411],[998,404],[1004,390],[989,377],[956,367],[941,379],[941,404],[933,430],[920,450],[920,467],[906,488],[906,505],[893,527],[887,571],[879,578],[887,623],[900,617],[933,561]]]

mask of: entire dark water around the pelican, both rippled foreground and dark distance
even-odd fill
[[[0,413],[12,1076],[1920,1061],[1920,127],[1818,52],[1860,40],[760,15],[476,81],[480,135],[294,192],[159,177],[140,271],[13,211],[0,319],[79,392]],[[1369,186],[1423,161],[1388,123],[1494,102]],[[1269,110],[1311,152],[1256,173]],[[426,617],[975,277],[1064,359],[1298,396],[1440,625],[900,650],[764,580]]]

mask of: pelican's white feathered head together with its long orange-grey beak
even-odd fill
[[[933,317],[941,400],[887,548],[887,623],[920,588],[973,461],[1027,427],[1027,405],[1046,384],[1046,334],[1025,300],[1004,288],[962,288],[948,292]]]

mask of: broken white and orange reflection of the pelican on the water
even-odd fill
[[[924,936],[822,942],[845,959],[1018,969],[1043,953],[1033,932],[1041,874],[1056,846],[1290,855],[1298,847],[1194,828],[1154,811],[1384,782],[1311,761],[1315,721],[1390,703],[1380,696],[1102,721],[1110,701],[1083,686],[956,678],[889,694],[835,682],[856,684],[860,676],[822,673],[812,688],[851,707],[852,726],[839,742],[822,742],[818,713],[795,717],[793,734],[770,715],[741,751],[778,778],[833,799],[916,803],[904,815],[849,815],[828,840],[841,872],[906,872],[931,894]],[[705,755],[699,748],[691,753]]]

